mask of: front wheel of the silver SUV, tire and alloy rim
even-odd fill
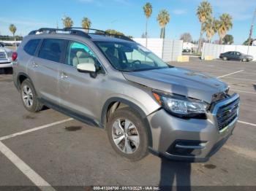
[[[133,109],[126,107],[116,110],[107,123],[107,132],[111,146],[119,155],[137,161],[148,154],[146,125]]]

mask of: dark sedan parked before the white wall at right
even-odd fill
[[[222,58],[223,61],[243,61],[243,62],[249,62],[253,60],[252,55],[245,55],[241,52],[236,51],[229,51],[225,53],[221,53],[219,55],[219,58]]]

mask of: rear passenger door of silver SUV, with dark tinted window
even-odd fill
[[[31,63],[34,69],[34,86],[39,97],[59,104],[59,66],[64,62],[67,40],[43,39],[37,57]]]

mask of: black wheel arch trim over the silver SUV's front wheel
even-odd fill
[[[138,114],[140,114],[140,117],[142,118],[144,124],[146,125],[146,130],[148,133],[148,147],[152,147],[153,141],[152,141],[152,132],[151,128],[147,119],[147,115],[143,110],[138,106],[137,104],[133,103],[132,101],[128,101],[127,99],[124,98],[118,98],[118,97],[113,97],[109,98],[107,101],[105,101],[105,104],[102,107],[102,114],[101,114],[101,121],[100,124],[102,125],[102,128],[105,128],[106,120],[107,120],[107,112],[108,112],[108,107],[110,104],[113,102],[121,102],[122,104],[126,104],[127,106],[131,107],[134,109]]]

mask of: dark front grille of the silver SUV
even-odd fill
[[[219,130],[224,129],[238,117],[239,98],[229,104],[220,106],[217,110],[217,122]]]

